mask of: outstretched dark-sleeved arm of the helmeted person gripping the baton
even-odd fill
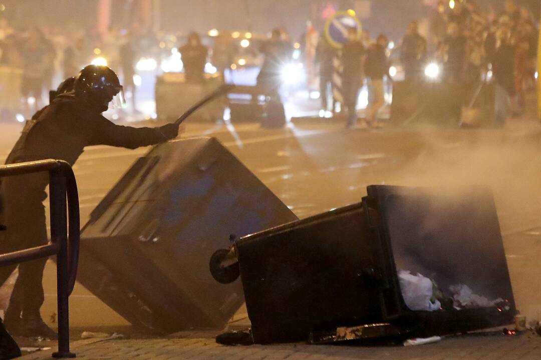
[[[135,149],[176,138],[179,126],[176,124],[160,127],[121,126],[100,116],[88,124],[86,132],[87,145],[109,145]]]

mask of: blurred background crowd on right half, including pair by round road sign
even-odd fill
[[[421,35],[417,21],[408,25],[405,36],[393,50],[399,52],[404,80],[425,81],[427,65],[434,63],[437,74],[432,75],[464,89],[461,101],[467,104],[475,89],[493,79],[497,84],[496,102],[511,104],[510,108],[500,106],[497,116],[520,115],[526,91],[535,89],[539,31],[531,11],[524,6],[519,8],[513,0],[506,0],[500,13],[484,11],[474,0],[456,0],[452,4],[453,8],[448,2],[438,4],[426,31],[427,38]],[[349,30],[349,42],[341,50],[320,38],[316,63],[320,69],[321,106],[323,111],[328,110],[326,94],[337,71],[333,59],[339,55],[348,127],[378,126],[377,113],[385,104],[383,80],[393,78],[388,73],[389,42],[384,34],[372,40],[366,29],[361,34],[358,29]],[[355,107],[364,84],[369,92],[366,121],[356,125]]]

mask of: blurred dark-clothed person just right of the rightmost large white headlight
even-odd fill
[[[467,57],[467,39],[460,32],[457,23],[450,23],[445,39],[447,62],[445,63],[447,80],[453,83],[464,79]]]

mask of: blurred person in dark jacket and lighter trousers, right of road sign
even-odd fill
[[[368,108],[366,109],[366,121],[368,125],[377,126],[378,112],[381,106],[385,105],[385,94],[383,89],[383,78],[389,75],[389,65],[385,51],[388,46],[388,39],[385,35],[380,34],[374,44],[368,49],[365,74],[369,81],[368,88],[370,89]]]

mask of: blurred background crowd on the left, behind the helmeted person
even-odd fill
[[[148,40],[147,34],[137,26],[130,31],[111,28],[104,35],[74,24],[13,28],[6,18],[0,18],[0,66],[8,69],[6,72],[19,70],[22,73],[21,80],[9,86],[18,87],[12,90],[17,90],[23,101],[12,106],[20,105],[27,114],[37,111],[47,104],[48,91],[55,88],[55,84],[76,76],[100,56],[107,58],[108,65],[120,70],[128,90],[133,89],[137,47],[144,46],[145,42],[157,47],[159,43],[154,34],[150,37]]]

